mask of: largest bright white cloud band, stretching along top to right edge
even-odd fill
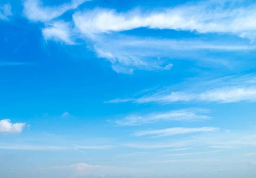
[[[77,28],[87,35],[146,27],[200,33],[231,33],[254,39],[256,5],[244,4],[243,0],[209,0],[145,13],[138,9],[128,12],[94,9],[76,12],[73,21]]]

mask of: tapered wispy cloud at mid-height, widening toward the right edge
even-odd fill
[[[256,101],[256,85],[249,83],[254,75],[228,76],[214,80],[183,82],[161,91],[140,98],[114,99],[109,103],[172,103],[188,101],[207,101],[219,103],[234,103],[239,101]],[[193,86],[189,88],[187,86]]]

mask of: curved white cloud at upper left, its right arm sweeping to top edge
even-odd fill
[[[44,6],[40,0],[26,0],[24,2],[24,15],[32,21],[47,22],[61,16],[66,11],[76,9],[79,5],[88,0],[72,0],[71,3],[60,6]]]

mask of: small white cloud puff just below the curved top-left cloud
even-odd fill
[[[63,21],[55,21],[42,29],[42,34],[45,40],[63,41],[67,44],[74,45],[71,37],[70,23]]]

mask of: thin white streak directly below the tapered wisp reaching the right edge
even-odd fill
[[[201,115],[207,110],[203,109],[183,109],[173,110],[163,113],[150,113],[148,115],[128,115],[125,119],[114,121],[117,126],[138,126],[144,123],[154,123],[157,121],[191,121],[209,119],[209,116]]]

